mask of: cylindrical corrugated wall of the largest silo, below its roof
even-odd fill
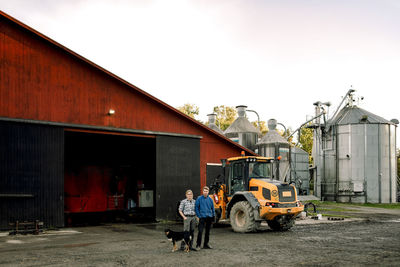
[[[349,124],[338,127],[339,201],[350,201],[346,195],[352,192],[356,184],[364,185],[364,195],[352,196],[351,201],[396,201],[394,127],[388,124]]]

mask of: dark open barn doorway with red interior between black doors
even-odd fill
[[[154,136],[65,130],[66,225],[155,220]]]

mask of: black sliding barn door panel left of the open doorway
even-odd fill
[[[64,131],[0,121],[0,228],[64,225]]]

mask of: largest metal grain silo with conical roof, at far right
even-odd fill
[[[347,105],[314,132],[317,195],[338,202],[396,202],[396,124]]]

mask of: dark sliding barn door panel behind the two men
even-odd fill
[[[174,220],[186,190],[198,195],[200,139],[158,136],[156,147],[156,217]]]

